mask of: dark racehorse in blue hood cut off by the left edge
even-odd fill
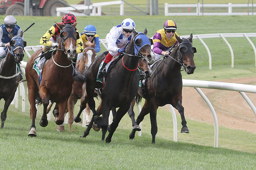
[[[22,39],[23,33],[20,35],[11,36],[10,46],[8,47],[8,52],[6,57],[0,59],[0,100],[4,99],[4,108],[1,113],[1,128],[4,126],[6,119],[6,113],[9,105],[11,104],[15,91],[19,84],[19,74],[20,70],[17,63],[21,62],[24,57],[24,47],[26,47],[26,42]]]

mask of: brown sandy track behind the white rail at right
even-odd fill
[[[227,79],[219,82],[256,85],[256,77]],[[256,133],[256,116],[238,91],[205,88],[201,90],[212,103],[219,126]],[[182,93],[186,118],[214,124],[210,108],[196,89],[183,87]],[[256,105],[256,94],[245,94]]]

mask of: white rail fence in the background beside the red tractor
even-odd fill
[[[120,15],[124,15],[124,2],[123,1],[109,1],[109,2],[98,2],[92,3],[91,5],[85,6],[84,4],[71,5],[69,7],[57,7],[56,12],[57,16],[60,16],[60,13],[72,13],[75,16],[86,16],[85,13],[75,12],[77,10],[92,10],[90,16],[101,16],[101,6],[106,5],[116,5],[120,4]]]

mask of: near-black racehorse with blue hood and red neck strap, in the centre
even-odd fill
[[[146,36],[147,30],[145,29],[144,33],[137,33],[135,30],[132,32],[134,35],[133,41],[129,44],[126,53],[124,53],[123,57],[119,57],[119,60],[116,60],[115,64],[106,74],[105,85],[101,93],[102,119],[97,119],[99,118],[99,113],[95,110],[94,89],[102,87],[102,84],[96,82],[96,79],[99,65],[107,52],[100,54],[87,70],[86,92],[88,105],[91,111],[93,111],[93,118],[85,130],[83,137],[89,134],[89,130],[94,121],[99,128],[106,131],[108,128],[110,110],[115,112],[116,107],[119,107],[118,111],[114,113],[116,116],[113,123],[110,125],[110,133],[108,137],[106,137],[106,143],[111,142],[111,138],[118,123],[128,111],[132,100],[138,92],[140,79],[140,73],[138,71],[139,59],[145,58],[147,63],[155,61],[155,55],[150,48],[150,41]]]

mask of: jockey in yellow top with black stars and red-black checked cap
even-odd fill
[[[62,24],[70,24],[70,25],[73,25],[75,24],[76,25],[76,17],[71,14],[71,13],[68,13],[66,15],[63,16],[62,18]],[[54,24],[51,28],[48,29],[48,31],[41,37],[40,39],[40,44],[41,45],[44,45],[43,47],[43,51],[42,51],[42,54],[45,53],[46,51],[48,51],[50,48],[52,47],[55,47],[55,46],[58,46],[59,45],[59,39],[60,39],[60,29],[59,27]],[[75,28],[75,31],[77,31],[77,29]],[[81,35],[79,34],[79,39],[76,40],[76,52],[77,53],[81,53],[84,49],[83,47],[83,40],[82,40],[82,37]],[[48,58],[46,58],[47,60]],[[73,66],[75,68],[75,64],[76,64],[76,59],[77,59],[77,56],[72,60],[72,63],[73,63]],[[74,73],[73,73],[73,76],[76,76],[77,75],[77,72],[76,70],[74,69]]]

